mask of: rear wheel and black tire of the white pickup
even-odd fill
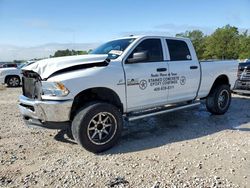
[[[215,115],[225,114],[230,104],[231,91],[229,85],[219,85],[212,88],[206,99],[207,110]]]

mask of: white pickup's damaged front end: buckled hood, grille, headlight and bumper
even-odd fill
[[[69,72],[106,67],[108,55],[86,55],[37,61],[22,70],[23,95],[19,109],[28,126],[64,129],[71,124],[73,104],[63,81],[51,79]]]

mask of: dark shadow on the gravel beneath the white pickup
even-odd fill
[[[136,152],[188,141],[223,130],[250,131],[250,97],[235,95],[229,111],[222,116],[211,115],[204,104],[197,108],[125,123],[121,141],[102,153]],[[56,140],[73,144],[59,132]]]

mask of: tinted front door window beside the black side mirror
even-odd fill
[[[140,62],[159,62],[163,61],[163,52],[160,39],[146,39],[142,41],[129,55],[129,59],[136,58],[135,54],[144,53],[145,58],[143,60],[133,61],[133,63]]]

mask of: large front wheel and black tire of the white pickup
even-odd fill
[[[118,108],[108,103],[93,102],[78,111],[71,129],[78,144],[90,152],[100,153],[117,143],[122,127],[123,119]]]

